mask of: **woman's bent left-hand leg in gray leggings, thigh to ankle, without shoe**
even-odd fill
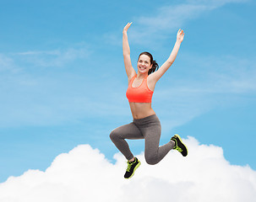
[[[117,146],[117,149],[123,153],[123,156],[130,160],[133,158],[133,153],[124,139],[138,140],[144,139],[144,136],[142,136],[139,128],[132,122],[112,130],[110,138],[115,146]]]

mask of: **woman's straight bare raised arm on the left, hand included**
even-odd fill
[[[128,35],[127,31],[132,23],[126,24],[126,26],[123,28],[123,61],[125,66],[125,71],[128,76],[128,81],[133,77],[133,75],[136,74],[135,70],[132,66],[131,56],[130,56],[130,47],[128,44]]]

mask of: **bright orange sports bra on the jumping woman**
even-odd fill
[[[132,85],[135,77],[137,77],[137,75],[132,77],[126,92],[129,103],[151,103],[154,92],[148,87],[147,77],[144,77],[139,87],[134,88]]]

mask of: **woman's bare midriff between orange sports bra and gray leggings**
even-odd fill
[[[133,119],[143,119],[144,117],[155,114],[151,108],[151,103],[129,103],[133,114]]]

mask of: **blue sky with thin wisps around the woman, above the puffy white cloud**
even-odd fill
[[[181,3],[182,2],[182,3]],[[113,161],[109,133],[132,120],[125,97],[123,26],[133,66],[150,51],[161,143],[178,133],[221,146],[228,162],[256,170],[256,3],[224,1],[0,1],[0,182],[44,170],[80,144]],[[143,141],[130,141],[135,154]]]

